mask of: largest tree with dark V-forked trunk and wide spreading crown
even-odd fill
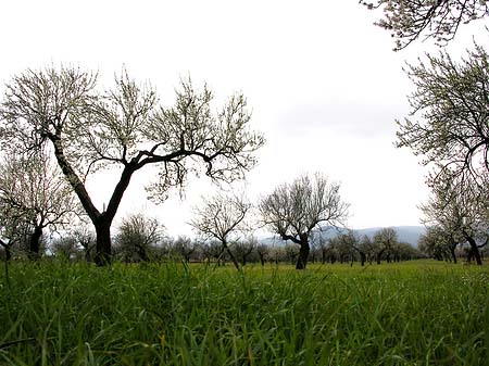
[[[263,144],[248,128],[251,118],[242,94],[214,111],[213,92],[183,80],[172,106],[159,102],[150,85],[126,72],[112,89],[100,90],[90,72],[64,67],[27,70],[7,84],[0,104],[0,138],[16,152],[49,144],[78,197],[97,235],[96,262],[111,260],[111,225],[136,172],[159,167],[147,186],[162,202],[172,187],[183,187],[189,173],[203,168],[213,180],[242,178]],[[103,209],[87,189],[87,177],[101,168],[118,175]]]

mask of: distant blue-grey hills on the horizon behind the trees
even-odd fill
[[[399,241],[403,241],[406,243],[410,243],[413,247],[417,247],[417,241],[422,235],[426,232],[426,229],[424,226],[391,226],[392,229],[396,230],[398,234]],[[365,229],[354,229],[353,231],[362,238],[363,236],[368,236],[369,238],[373,238],[375,232],[383,229],[381,227],[369,227]],[[328,240],[330,238],[335,238],[340,232],[347,232],[347,229],[336,229],[334,227],[325,227],[322,230],[316,230],[316,235],[321,235],[324,239]],[[284,244],[284,241],[280,240],[277,237],[267,237],[267,238],[261,238],[259,239],[261,243],[264,244],[275,244],[275,245],[281,245]]]

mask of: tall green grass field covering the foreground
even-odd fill
[[[489,365],[489,267],[13,263],[0,365]]]

